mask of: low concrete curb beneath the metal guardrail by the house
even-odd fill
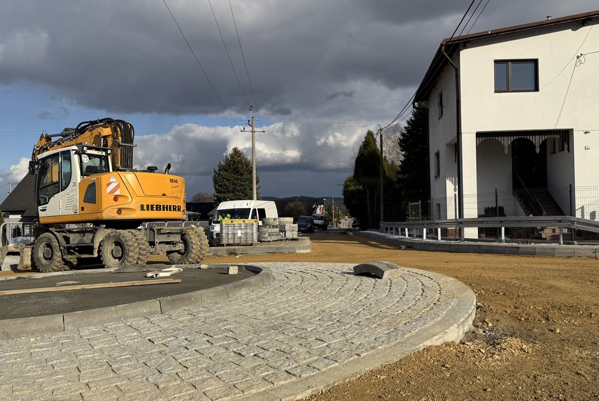
[[[599,259],[599,247],[594,245],[557,245],[557,244],[497,244],[491,242],[449,242],[434,239],[410,239],[382,235],[373,231],[358,231],[365,236],[383,244],[397,247],[409,247],[418,251],[453,252],[453,253],[489,253],[504,255],[535,255],[554,257],[588,257]]]

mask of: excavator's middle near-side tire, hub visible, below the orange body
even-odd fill
[[[105,268],[116,269],[136,265],[139,248],[137,240],[127,230],[110,229],[100,244],[99,253]]]

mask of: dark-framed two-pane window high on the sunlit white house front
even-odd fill
[[[539,60],[495,60],[495,92],[539,90]]]

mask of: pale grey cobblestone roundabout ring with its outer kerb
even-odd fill
[[[465,330],[449,339],[419,333],[464,293],[471,311],[453,323],[467,329],[474,314],[467,287],[429,272],[404,269],[400,279],[380,280],[354,276],[348,264],[259,266],[274,281],[249,296],[0,340],[0,398],[294,399],[458,339]]]

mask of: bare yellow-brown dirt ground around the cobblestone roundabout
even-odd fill
[[[599,260],[399,250],[358,235],[313,236],[311,248],[204,263],[387,260],[464,282],[477,310],[459,344],[426,348],[308,400],[599,399]]]

